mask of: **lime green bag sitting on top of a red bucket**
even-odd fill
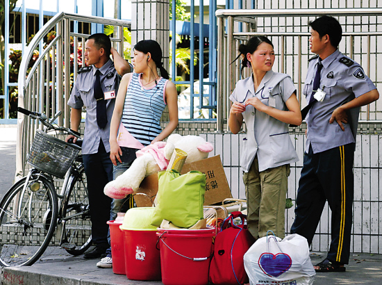
[[[159,227],[169,220],[176,227],[189,228],[203,219],[206,174],[192,170],[179,174],[176,170],[158,173],[158,194],[151,225]]]

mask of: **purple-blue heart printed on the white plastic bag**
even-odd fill
[[[266,275],[279,277],[292,266],[292,259],[285,253],[278,253],[275,255],[265,252],[260,255],[258,266],[260,266],[261,270],[263,270]]]

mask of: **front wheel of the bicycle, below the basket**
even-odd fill
[[[32,175],[12,186],[0,202],[1,266],[35,263],[51,241],[57,214],[56,190],[49,179]]]

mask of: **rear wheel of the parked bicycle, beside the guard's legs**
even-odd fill
[[[89,213],[88,188],[83,165],[78,175],[69,182],[63,206],[64,244],[62,247],[69,254],[83,254],[92,243],[92,231]]]

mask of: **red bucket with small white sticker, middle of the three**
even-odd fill
[[[160,252],[156,230],[122,229],[126,277],[131,280],[160,280]]]

